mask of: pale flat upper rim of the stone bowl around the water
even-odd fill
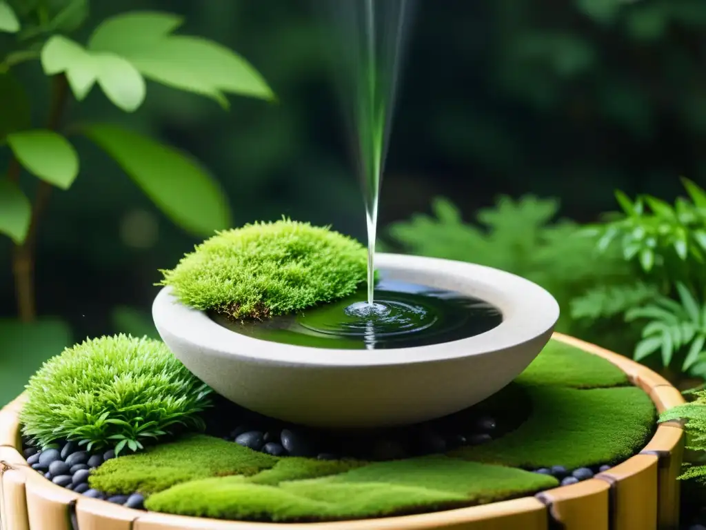
[[[486,355],[549,338],[558,320],[554,297],[536,283],[492,267],[429,257],[381,253],[378,269],[386,277],[433,288],[455,290],[485,300],[501,310],[503,322],[482,334],[457,341],[384,350],[313,348],[252,338],[230,331],[208,314],[183,305],[164,287],[152,304],[160,335],[208,350],[210,355],[277,365],[366,367],[409,365]],[[539,351],[539,350],[538,350]]]

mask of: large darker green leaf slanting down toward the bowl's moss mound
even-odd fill
[[[229,208],[220,187],[191,158],[112,125],[92,125],[84,132],[184,229],[211,235],[229,225]]]

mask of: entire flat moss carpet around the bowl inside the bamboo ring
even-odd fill
[[[654,428],[654,406],[627,384],[611,363],[551,342],[513,384],[477,407],[498,417],[513,408],[528,416],[487,444],[368,463],[277,459],[195,436],[108,461],[90,483],[110,493],[148,494],[149,510],[253,521],[380,517],[476,505],[557,485],[551,476],[524,469],[613,463],[643,447]],[[520,406],[523,401],[531,406]]]

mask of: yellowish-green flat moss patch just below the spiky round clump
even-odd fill
[[[254,475],[277,459],[233,442],[193,435],[143,453],[112,459],[88,479],[91,488],[110,493],[154,493],[198,478]]]

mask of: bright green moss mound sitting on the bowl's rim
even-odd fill
[[[219,232],[162,271],[160,285],[198,310],[263,319],[350,295],[366,271],[359,242],[285,219]]]

